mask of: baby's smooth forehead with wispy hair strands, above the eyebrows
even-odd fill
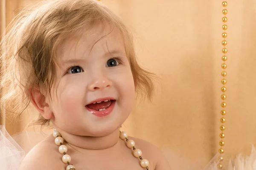
[[[85,26],[76,34],[67,37],[57,47],[56,54],[58,60],[63,62],[71,57],[82,58],[100,51],[125,52],[124,39],[116,26],[110,24]]]

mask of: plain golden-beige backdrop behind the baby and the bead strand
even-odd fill
[[[3,1],[3,0],[2,0]],[[6,0],[6,24],[33,0]],[[134,32],[138,60],[159,75],[152,103],[137,102],[123,129],[196,166],[218,151],[221,0],[102,0]],[[256,144],[256,0],[228,0],[227,153]],[[18,10],[17,10],[18,9]],[[16,10],[16,11],[15,11]],[[3,29],[2,29],[3,31]],[[34,112],[30,113],[35,115]],[[23,130],[6,123],[10,133]],[[172,167],[176,158],[170,159]]]

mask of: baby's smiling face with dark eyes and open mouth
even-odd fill
[[[97,26],[84,32],[57,49],[61,78],[52,89],[52,121],[74,135],[108,135],[132,110],[133,75],[116,28]]]

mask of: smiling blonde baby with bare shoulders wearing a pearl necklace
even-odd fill
[[[20,170],[169,170],[157,147],[120,132],[136,93],[151,98],[131,34],[95,0],[50,0],[18,14],[1,43],[1,103],[53,126]],[[72,159],[71,159],[72,158]]]

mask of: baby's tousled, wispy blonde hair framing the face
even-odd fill
[[[1,41],[1,112],[20,115],[30,103],[31,86],[50,94],[58,44],[82,27],[102,22],[114,24],[121,32],[136,92],[151,99],[154,74],[138,65],[133,37],[113,12],[96,0],[49,0],[38,5],[20,12]],[[39,115],[34,123],[47,125],[49,120]]]

